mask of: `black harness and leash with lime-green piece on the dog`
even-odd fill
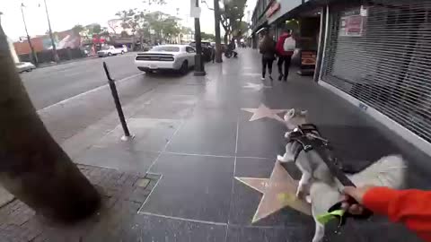
[[[295,149],[295,161],[298,158],[301,151],[316,151],[321,160],[325,162],[332,176],[339,180],[339,183],[343,186],[355,186],[355,184],[346,176],[342,171],[342,164],[332,153],[332,147],[327,139],[322,138],[321,133],[316,125],[306,124],[299,125],[292,132],[289,133],[289,143],[298,143],[299,145]],[[349,199],[344,203],[349,203],[350,205],[358,204],[357,201],[349,196]],[[353,218],[357,220],[366,220],[373,215],[368,209],[364,209],[364,212],[360,215],[351,214],[350,212],[345,212],[341,209],[341,204],[339,202],[334,204],[328,210],[328,213],[321,214],[318,216],[318,220],[325,224],[330,220],[336,218],[339,219],[339,227],[346,223],[347,218]]]

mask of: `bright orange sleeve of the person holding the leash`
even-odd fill
[[[364,195],[364,205],[392,222],[402,222],[425,241],[431,241],[431,192],[374,187]]]

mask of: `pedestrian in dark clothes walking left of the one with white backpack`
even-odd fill
[[[269,33],[266,30],[264,30],[263,38],[260,40],[260,43],[259,43],[259,52],[260,54],[262,54],[261,80],[262,81],[265,80],[265,73],[267,72],[267,66],[268,66],[269,79],[272,81],[272,64],[276,59],[276,43],[269,36]]]

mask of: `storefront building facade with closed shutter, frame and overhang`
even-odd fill
[[[315,11],[315,81],[431,154],[431,1],[311,0],[274,22]]]

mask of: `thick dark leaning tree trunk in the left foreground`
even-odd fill
[[[48,219],[95,212],[100,194],[43,125],[25,91],[0,26],[0,183]]]

